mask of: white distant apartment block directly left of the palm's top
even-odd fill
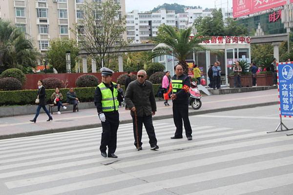
[[[126,14],[127,40],[131,43],[145,43],[157,35],[161,24],[175,27],[175,11],[160,9],[152,13],[133,10]]]

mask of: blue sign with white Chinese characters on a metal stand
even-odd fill
[[[278,91],[282,116],[293,116],[293,62],[278,63]]]

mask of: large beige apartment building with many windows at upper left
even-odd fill
[[[104,0],[0,0],[0,18],[8,19],[30,36],[41,52],[54,38],[76,39],[70,29],[83,18],[84,2]],[[125,15],[125,0],[113,0]],[[126,36],[125,36],[126,39]]]

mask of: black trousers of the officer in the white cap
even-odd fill
[[[104,112],[106,121],[102,122],[102,138],[100,151],[106,152],[108,146],[108,153],[114,153],[117,148],[117,130],[119,127],[119,113],[115,112]]]

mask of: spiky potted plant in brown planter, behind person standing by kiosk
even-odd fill
[[[235,66],[235,64],[233,65]],[[250,64],[246,62],[246,60],[241,60],[239,62],[239,65],[242,68],[241,77],[240,77],[241,85],[243,87],[252,87],[252,74],[249,71]],[[228,79],[229,79],[230,88],[233,88],[234,87],[234,72],[230,73],[230,75],[228,76]]]

